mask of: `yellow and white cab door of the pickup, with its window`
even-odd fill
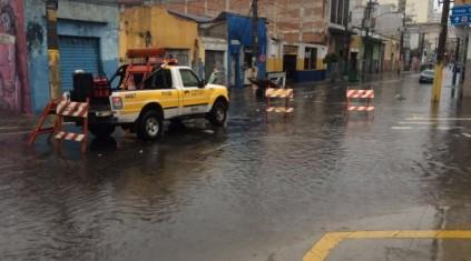
[[[198,114],[207,112],[209,98],[205,88],[199,88],[199,79],[190,69],[179,69],[183,83],[184,114]]]

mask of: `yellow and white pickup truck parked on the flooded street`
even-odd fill
[[[134,88],[122,88],[126,72],[124,66],[114,78],[106,80],[104,86],[110,87],[118,78],[117,88],[109,88],[108,92],[97,91],[100,83],[97,79],[90,91],[72,91],[72,100],[91,96],[89,131],[96,137],[110,135],[120,126],[140,139],[156,140],[163,133],[164,120],[206,118],[214,126],[223,126],[227,119],[227,88],[206,84],[188,67],[156,67],[141,79],[134,79],[138,82]],[[75,82],[80,80],[75,79]]]

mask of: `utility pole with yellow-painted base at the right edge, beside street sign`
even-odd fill
[[[447,33],[448,33],[448,19],[450,12],[450,0],[443,0],[443,10],[442,10],[442,21],[441,21],[441,32],[439,38],[439,47],[436,51],[436,64],[435,64],[435,76],[433,78],[433,88],[432,88],[432,101],[439,102],[442,91],[442,80],[443,80],[443,63],[444,63],[444,52],[447,46]]]

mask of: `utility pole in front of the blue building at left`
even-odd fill
[[[49,59],[49,91],[51,99],[61,96],[60,67],[59,67],[59,39],[57,37],[58,0],[46,0],[47,41]]]

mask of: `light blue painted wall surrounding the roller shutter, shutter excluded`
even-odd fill
[[[43,0],[26,0],[28,68],[36,112],[50,98],[45,12]],[[118,6],[61,0],[58,34],[99,38],[101,68],[110,77],[118,67]]]

